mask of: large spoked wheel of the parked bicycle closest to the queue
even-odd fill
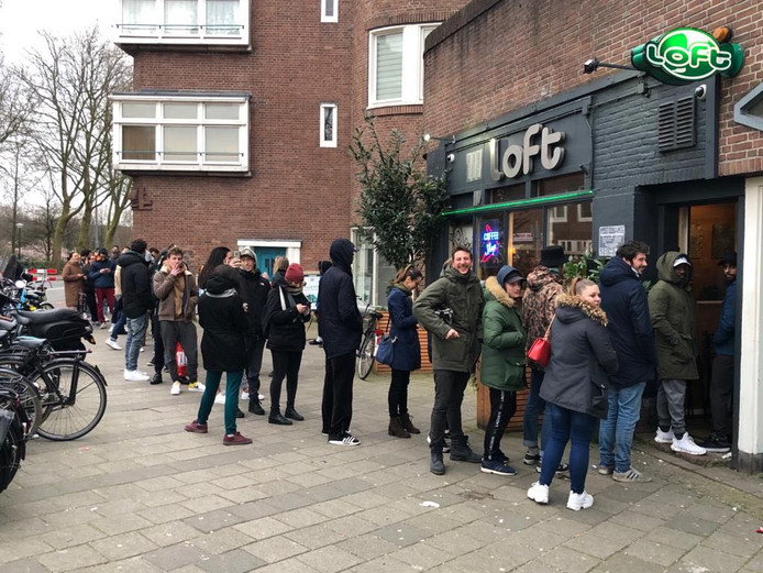
[[[53,385],[48,387],[45,381]],[[85,362],[55,360],[32,377],[41,384],[43,416],[37,433],[54,441],[81,438],[101,421],[106,412],[106,381],[101,373]],[[73,394],[71,388],[76,387]],[[58,394],[54,392],[58,388]]]

